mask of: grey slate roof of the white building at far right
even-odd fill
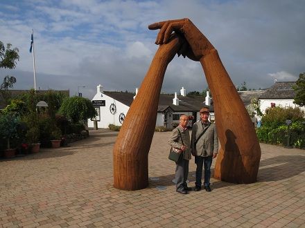
[[[259,99],[293,99],[295,82],[275,82]]]

